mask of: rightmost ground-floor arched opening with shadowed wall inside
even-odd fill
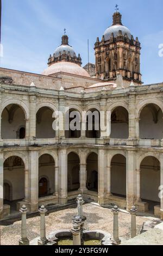
[[[153,211],[155,205],[160,204],[160,162],[153,156],[143,159],[140,165],[140,198],[149,204]]]

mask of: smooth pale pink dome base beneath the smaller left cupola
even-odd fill
[[[90,75],[85,69],[83,69],[78,64],[72,63],[72,62],[54,63],[51,66],[48,66],[48,68],[45,71],[43,71],[42,75],[52,76],[59,72],[65,72],[68,74],[90,77]]]

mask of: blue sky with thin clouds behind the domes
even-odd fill
[[[162,0],[2,0],[1,66],[40,74],[47,67],[49,54],[61,43],[64,28],[83,65],[87,63],[87,39],[90,62],[95,63],[93,46],[97,36],[112,24],[118,4],[122,22],[141,50],[141,73],[145,84],[163,82]]]

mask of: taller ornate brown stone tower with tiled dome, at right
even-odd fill
[[[112,26],[95,44],[96,77],[108,81],[122,75],[124,80],[141,84],[140,50],[138,38],[122,25],[122,15],[114,13]]]

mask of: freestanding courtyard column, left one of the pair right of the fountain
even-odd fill
[[[118,209],[117,205],[114,206],[112,209],[112,212],[114,214],[114,220],[113,220],[113,240],[116,245],[120,245],[121,240],[119,239],[119,227],[118,227],[118,213],[120,210]]]

